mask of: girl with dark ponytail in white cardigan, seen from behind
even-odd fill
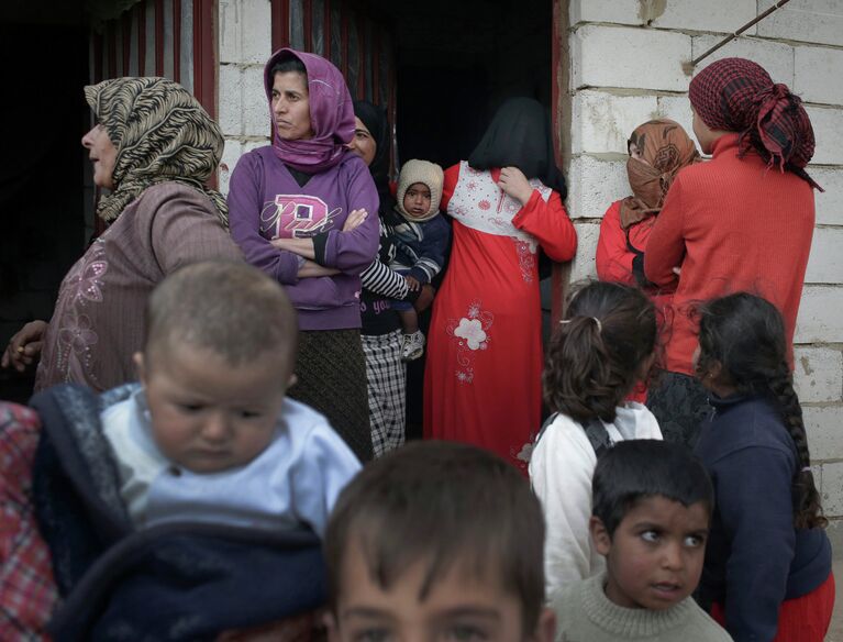
[[[592,283],[576,292],[554,334],[544,397],[555,411],[530,461],[530,480],[547,521],[547,595],[599,573],[591,547],[591,476],[598,452],[629,439],[662,439],[655,417],[624,402],[646,376],[656,343],[653,303],[639,289]]]

